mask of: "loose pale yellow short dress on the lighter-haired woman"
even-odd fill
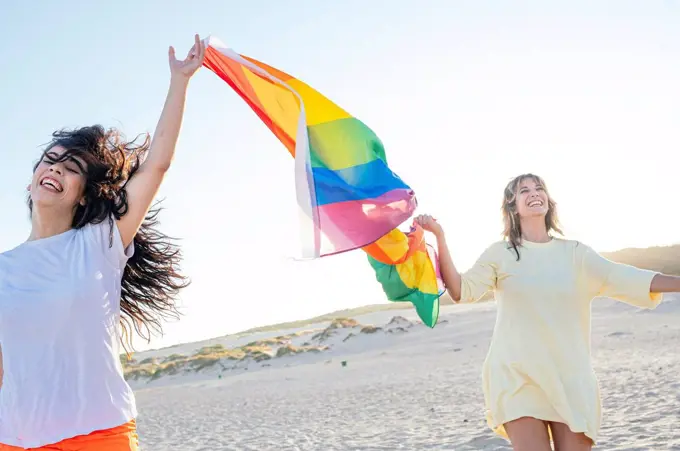
[[[565,423],[596,442],[599,385],[590,358],[590,303],[606,296],[654,308],[656,272],[614,263],[583,243],[553,238],[524,242],[520,260],[509,243],[489,246],[462,276],[461,302],[489,291],[498,304],[482,380],[489,427],[520,417]]]

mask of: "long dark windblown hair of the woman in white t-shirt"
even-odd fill
[[[136,141],[143,137],[140,144]],[[52,134],[41,160],[66,161],[77,157],[86,165],[85,204],[78,204],[73,216],[72,227],[79,229],[86,224],[98,224],[108,220],[111,225],[109,246],[113,245],[114,218],[120,219],[128,211],[125,184],[139,169],[149,151],[150,137],[139,135],[126,141],[116,129],[105,129],[93,125],[72,130],[59,130]],[[65,149],[55,159],[50,150],[55,146]],[[36,163],[33,171],[37,169]],[[162,334],[161,320],[179,318],[176,297],[182,288],[189,285],[186,277],[179,273],[182,258],[174,238],[161,233],[158,213],[161,208],[155,204],[147,214],[134,237],[135,252],[123,271],[121,287],[121,326],[123,346],[132,346],[131,328],[143,339]],[[33,210],[31,197],[29,209]]]

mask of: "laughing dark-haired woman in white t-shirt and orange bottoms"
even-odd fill
[[[160,331],[188,284],[152,202],[204,54],[198,35],[184,60],[170,47],[152,141],[99,125],[62,130],[34,167],[30,236],[0,254],[0,451],[137,449],[119,346],[131,328]]]

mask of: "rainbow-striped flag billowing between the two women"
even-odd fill
[[[295,159],[305,258],[363,249],[391,301],[411,302],[434,327],[444,286],[423,231],[397,227],[417,205],[387,165],[380,139],[359,119],[302,81],[205,40],[204,66],[224,80]]]

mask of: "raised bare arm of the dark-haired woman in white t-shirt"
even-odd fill
[[[165,105],[151,141],[149,154],[125,186],[128,212],[118,220],[118,229],[126,247],[137,234],[165,173],[170,168],[182,125],[189,79],[203,64],[204,56],[205,44],[198,35],[195,36],[194,46],[184,60],[175,58],[174,48],[170,47],[168,50],[170,87]]]

